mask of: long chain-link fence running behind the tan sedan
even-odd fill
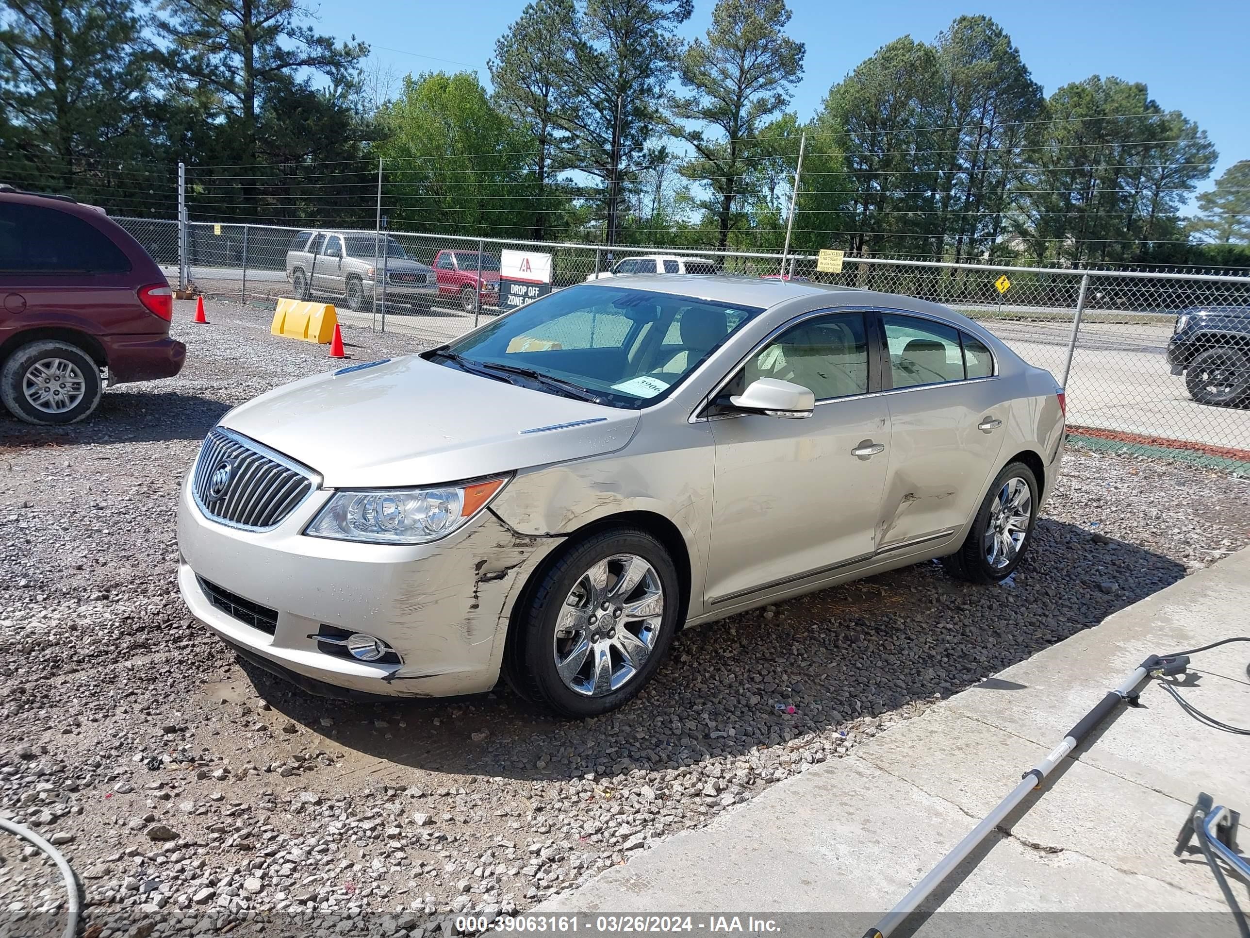
[[[551,255],[551,289],[616,273],[785,278],[932,300],[980,321],[1066,389],[1085,445],[1250,473],[1250,278],[818,258],[118,219],[171,283],[271,308],[336,304],[340,319],[446,341],[500,314],[505,249]],[[314,240],[315,238],[315,240]],[[310,250],[311,249],[311,250]],[[784,273],[782,273],[784,271]],[[421,283],[416,283],[416,281]]]

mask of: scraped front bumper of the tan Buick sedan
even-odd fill
[[[514,534],[490,510],[444,540],[419,547],[356,544],[300,532],[330,497],[315,490],[270,532],[206,518],[184,479],[178,582],[191,614],[278,673],[352,693],[449,697],[499,680],[512,603],[559,543]],[[210,602],[215,587],[278,612],[272,634]],[[368,663],[319,648],[321,625],[375,635],[401,663]],[[308,684],[305,684],[308,685]]]

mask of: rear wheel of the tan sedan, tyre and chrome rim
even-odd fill
[[[969,583],[1005,580],[1024,559],[1036,524],[1038,477],[1024,463],[1011,463],[990,485],[964,544],[942,564]]]

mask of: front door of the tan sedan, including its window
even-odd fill
[[[725,391],[759,378],[809,388],[812,415],[711,420],[716,441],[705,595],[715,610],[868,559],[890,455],[864,313],[806,316],[754,353]],[[712,404],[715,415],[716,404]]]

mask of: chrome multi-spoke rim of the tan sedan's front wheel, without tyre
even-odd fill
[[[636,554],[600,560],[569,592],[555,624],[555,668],[565,687],[602,697],[636,675],[660,635],[664,585]]]

